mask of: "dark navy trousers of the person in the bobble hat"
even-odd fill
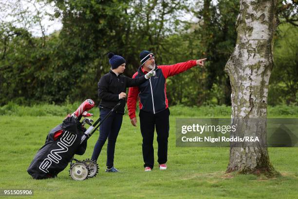
[[[104,118],[110,110],[100,109],[100,118]],[[115,144],[118,137],[118,133],[121,128],[123,115],[120,113],[112,112],[110,117],[107,118],[99,127],[100,133],[99,138],[94,146],[92,158],[94,160],[98,159],[103,145],[108,139],[107,147],[107,167],[112,168],[114,165],[114,153]]]

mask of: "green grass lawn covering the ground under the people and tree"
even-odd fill
[[[13,105],[12,105],[13,106]],[[27,109],[30,114],[43,113],[52,105]],[[75,105],[72,105],[75,107]],[[2,107],[3,108],[3,107]],[[70,108],[71,105],[70,105]],[[185,108],[172,107],[170,116],[170,136],[168,144],[168,169],[144,172],[141,152],[142,139],[138,127],[133,127],[127,115],[116,143],[115,167],[121,172],[105,173],[106,144],[99,156],[100,171],[97,177],[84,181],[74,181],[69,177],[68,168],[56,179],[34,180],[26,169],[37,150],[43,145],[49,130],[60,123],[65,114],[74,110],[56,107],[59,116],[16,116],[7,113],[0,116],[0,188],[33,189],[32,198],[201,198],[201,199],[293,199],[298,196],[298,148],[269,148],[269,156],[274,167],[282,174],[275,179],[262,179],[253,175],[225,174],[229,148],[178,148],[175,146],[176,117],[227,117],[229,107]],[[38,109],[34,110],[34,109]],[[293,108],[292,108],[293,109]],[[41,111],[40,111],[41,110]],[[53,109],[48,108],[48,111]],[[63,111],[61,111],[63,110]],[[184,111],[185,110],[185,111]],[[295,109],[297,110],[297,109]],[[16,113],[19,110],[11,111]],[[276,110],[275,110],[276,111]],[[66,113],[65,113],[66,112]],[[97,110],[94,109],[95,117]],[[208,115],[208,114],[210,115]],[[276,111],[273,116],[282,115]],[[29,115],[30,115],[29,114]],[[205,115],[206,114],[206,115]],[[213,115],[212,115],[213,114]],[[270,109],[269,109],[270,114]],[[297,112],[296,112],[297,114]],[[58,114],[56,114],[58,115]],[[77,159],[90,158],[98,137],[95,133],[88,141],[86,153]],[[154,141],[155,158],[157,143]],[[1,197],[0,197],[1,198]],[[9,197],[14,198],[14,197]],[[20,197],[17,197],[20,198]],[[25,197],[31,198],[31,197]]]

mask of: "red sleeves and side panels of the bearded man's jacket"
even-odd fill
[[[195,65],[196,65],[196,60],[189,60],[186,62],[176,63],[173,65],[161,65],[161,66],[157,66],[157,67],[162,70],[162,73],[163,73],[165,79],[167,79],[168,77],[182,73]],[[143,67],[142,67],[142,71],[144,72],[144,74],[148,73],[147,71],[144,71]],[[137,75],[138,75],[138,72],[133,74],[132,78],[135,78]],[[137,86],[130,87],[128,99],[127,99],[127,107],[128,107],[130,119],[136,117],[135,116],[136,101],[137,101],[139,93],[140,93],[139,87],[137,87]],[[166,108],[168,108],[166,82],[165,82],[165,97],[166,97]],[[139,100],[139,107],[140,107],[140,109],[142,108],[142,104],[141,104],[140,100]]]

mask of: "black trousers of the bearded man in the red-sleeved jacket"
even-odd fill
[[[168,108],[153,114],[140,110],[140,127],[143,137],[142,151],[144,159],[144,167],[153,168],[154,165],[154,149],[153,138],[154,129],[156,128],[158,143],[158,163],[164,164],[168,160],[168,131],[169,131],[169,110]]]

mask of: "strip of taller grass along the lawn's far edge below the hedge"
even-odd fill
[[[55,104],[37,104],[31,107],[20,106],[13,102],[0,107],[0,116],[66,116],[68,113],[74,112],[79,106],[79,102],[74,104],[55,105]],[[204,117],[204,118],[222,118],[231,116],[230,106],[201,106],[201,107],[187,107],[183,105],[171,106],[172,116],[187,116],[187,117]],[[97,112],[93,108],[91,113]],[[127,110],[126,110],[127,112]],[[270,118],[285,118],[294,117],[298,118],[298,106],[295,105],[277,105],[268,106],[268,117]]]

